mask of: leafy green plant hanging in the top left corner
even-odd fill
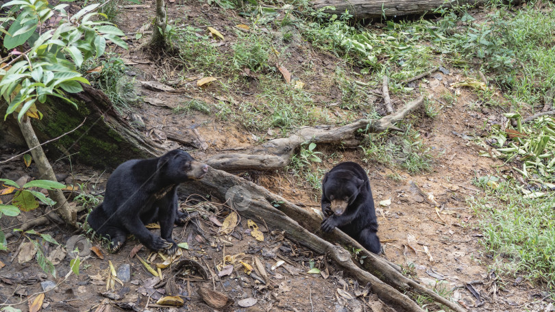
[[[58,96],[73,103],[64,92],[82,91],[79,82],[89,84],[76,68],[86,60],[103,55],[107,40],[127,49],[127,44],[119,38],[123,36],[121,30],[109,22],[95,20],[99,13],[94,11],[99,5],[87,5],[73,15],[64,9],[67,4],[51,9],[45,0],[15,0],[2,5],[2,8],[12,6],[12,12],[21,10],[16,18],[20,23],[13,23],[8,29],[10,34],[4,37],[3,46],[12,49],[24,42],[30,46],[23,52],[14,49],[2,60],[0,94],[9,103],[4,119],[18,112],[21,120],[36,101],[45,103],[47,96]],[[36,34],[36,27],[41,25],[42,29],[42,24],[54,12],[62,16],[60,25]],[[73,62],[66,60],[65,54]]]

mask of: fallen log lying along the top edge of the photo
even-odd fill
[[[453,5],[483,3],[481,0],[314,0],[314,8],[326,6],[334,7],[336,10],[325,10],[330,14],[342,14],[349,10],[354,18],[380,18],[382,16],[403,16],[410,14],[423,14],[443,7],[451,8]],[[518,4],[521,0],[505,1]]]

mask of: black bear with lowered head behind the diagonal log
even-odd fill
[[[322,231],[330,232],[337,226],[367,250],[375,254],[382,250],[370,181],[359,164],[346,161],[325,174],[321,205],[324,216],[331,213],[323,220]]]

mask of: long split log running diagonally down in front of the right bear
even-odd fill
[[[269,192],[264,187],[233,174],[211,168],[204,179],[197,181],[197,183],[184,183],[181,190],[188,194],[210,193],[221,200],[228,200],[228,203],[243,218],[264,220],[267,226],[285,231],[289,239],[307,246],[315,252],[328,255],[343,270],[358,279],[360,285],[370,283],[373,293],[377,294],[382,301],[390,304],[395,311],[423,311],[401,291],[423,294],[433,298],[436,302],[445,304],[454,311],[465,311],[455,302],[451,302],[434,293],[434,291],[406,278],[396,270],[393,263],[373,255],[338,229],[324,235],[319,231],[321,223],[319,216],[301,209],[282,196]],[[364,263],[365,270],[354,263],[351,255],[343,246],[355,246],[362,249],[359,255],[367,256]]]

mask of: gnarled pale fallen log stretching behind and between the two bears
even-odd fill
[[[274,170],[284,168],[291,161],[295,149],[304,142],[341,144],[342,146],[358,146],[358,131],[382,132],[387,129],[399,130],[395,122],[405,118],[410,112],[420,107],[424,99],[418,99],[406,104],[397,112],[380,119],[361,119],[341,127],[330,125],[317,127],[303,127],[288,138],[277,138],[264,142],[260,146],[250,146],[235,151],[223,153],[204,159],[212,168],[226,171],[232,170]]]

